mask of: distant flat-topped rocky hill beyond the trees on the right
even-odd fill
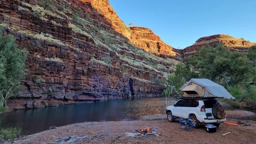
[[[183,56],[193,56],[199,48],[205,46],[206,44],[213,46],[215,43],[223,43],[224,46],[230,50],[236,50],[239,52],[247,52],[249,47],[256,45],[256,43],[245,41],[243,38],[238,39],[224,34],[216,34],[199,38],[192,46],[183,49]]]

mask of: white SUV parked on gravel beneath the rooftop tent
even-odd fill
[[[219,122],[226,121],[226,118],[218,119],[214,117],[212,109],[216,105],[220,105],[220,103],[215,98],[182,98],[174,105],[167,106],[166,114],[169,122],[174,122],[175,119],[180,117],[188,118],[188,115],[190,115],[194,128],[198,128],[199,125],[204,123],[211,123],[218,127]]]

